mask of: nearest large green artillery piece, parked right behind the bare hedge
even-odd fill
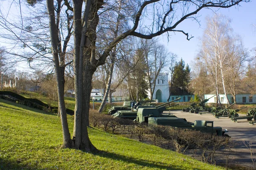
[[[196,120],[194,123],[187,122],[186,119],[178,118],[175,115],[166,115],[160,113],[156,108],[139,108],[136,121],[139,123],[148,123],[148,125],[168,125],[178,128],[199,130],[201,132],[213,133],[218,136],[224,136],[227,130],[222,127],[213,127],[213,121]],[[227,136],[225,134],[225,136]]]

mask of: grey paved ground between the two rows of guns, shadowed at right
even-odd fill
[[[251,141],[253,144],[252,150],[256,154],[256,124],[249,125],[250,121],[247,121],[247,119],[241,119],[238,120],[238,122],[233,122],[227,117],[216,119],[215,116],[212,116],[212,113],[208,112],[204,112],[202,115],[182,111],[165,111],[164,113],[172,113],[179,118],[185,118],[189,122],[194,122],[195,120],[214,121],[214,126],[227,129],[229,131],[227,134],[238,144],[235,150],[236,153],[232,155],[236,164],[248,166],[248,170],[253,168],[250,151],[245,147],[242,141]],[[253,158],[255,159],[256,155],[253,155]]]

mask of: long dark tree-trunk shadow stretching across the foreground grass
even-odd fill
[[[179,167],[177,167],[176,165],[163,164],[163,162],[153,161],[154,159],[152,159],[151,162],[148,162],[148,161],[144,161],[141,159],[138,160],[138,159],[130,158],[128,156],[122,156],[122,155],[115,154],[115,153],[105,152],[102,150],[100,150],[94,154],[101,156],[101,157],[109,158],[109,159],[122,160],[127,163],[134,163],[134,164],[137,164],[137,165],[140,165],[143,167],[160,168],[160,169],[167,169],[167,170],[182,170]],[[185,169],[185,167],[183,169]]]

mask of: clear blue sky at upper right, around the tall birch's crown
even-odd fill
[[[231,22],[231,27],[235,34],[239,34],[243,40],[244,47],[248,50],[256,47],[256,28],[252,25],[256,25],[256,0],[252,0],[250,3],[241,3],[239,8],[221,8],[218,11],[212,11],[209,9],[202,10],[199,14],[201,26],[195,21],[186,21],[182,23],[179,29],[189,33],[194,38],[191,40],[186,40],[186,36],[182,33],[173,34],[167,41],[166,37],[159,37],[166,48],[174,54],[177,54],[178,59],[182,58],[186,63],[190,65],[191,61],[194,59],[195,55],[199,50],[199,37],[202,37],[205,29],[205,17],[207,15],[213,15],[214,12],[218,14],[224,14],[229,17]],[[217,8],[215,9],[217,10]],[[251,56],[255,56],[255,51],[252,51]]]

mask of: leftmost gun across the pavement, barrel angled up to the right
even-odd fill
[[[214,95],[214,96],[216,96],[216,95]],[[211,99],[214,96],[211,96],[209,99]],[[199,102],[198,104],[191,103],[189,108],[183,108],[182,111],[186,111],[186,112],[189,112],[189,113],[199,113],[199,111],[209,111],[209,112],[211,112],[211,109],[208,108],[205,105],[206,102],[209,101],[209,99],[204,99],[203,101]]]

